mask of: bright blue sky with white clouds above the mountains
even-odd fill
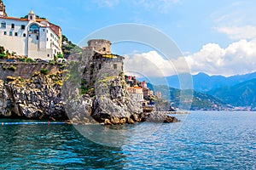
[[[183,59],[165,59],[155,48],[145,45],[127,42],[113,45],[115,54],[125,55],[127,70],[132,67],[139,71],[141,65],[146,65],[144,74],[156,77],[154,67],[162,75],[171,76],[183,71],[179,69],[183,65],[188,65],[192,74],[232,76],[256,71],[253,0],[3,0],[3,3],[9,16],[25,16],[32,9],[61,26],[62,33],[77,44],[104,27],[134,23],[161,31],[183,55]]]

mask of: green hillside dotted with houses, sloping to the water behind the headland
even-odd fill
[[[176,108],[181,106],[180,101],[182,101],[182,108],[190,110],[222,110],[228,108],[222,100],[209,94],[196,92],[195,90],[180,90],[164,85],[153,86],[150,83],[148,83],[148,88],[152,89],[154,92],[160,91],[162,98],[171,102],[172,106]],[[191,104],[191,108],[189,104]]]

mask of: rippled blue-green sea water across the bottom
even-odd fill
[[[125,128],[139,126],[156,130],[119,147],[91,142],[73,125],[0,126],[0,169],[256,169],[256,112],[192,112],[185,122]]]

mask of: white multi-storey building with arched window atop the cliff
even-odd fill
[[[61,28],[31,12],[26,18],[8,17],[0,4],[0,46],[32,59],[54,59],[61,51]],[[2,11],[1,11],[2,9]]]

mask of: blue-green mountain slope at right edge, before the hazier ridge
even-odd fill
[[[256,107],[256,78],[241,82],[234,86],[213,89],[207,94],[211,94],[225,103],[234,106]]]

